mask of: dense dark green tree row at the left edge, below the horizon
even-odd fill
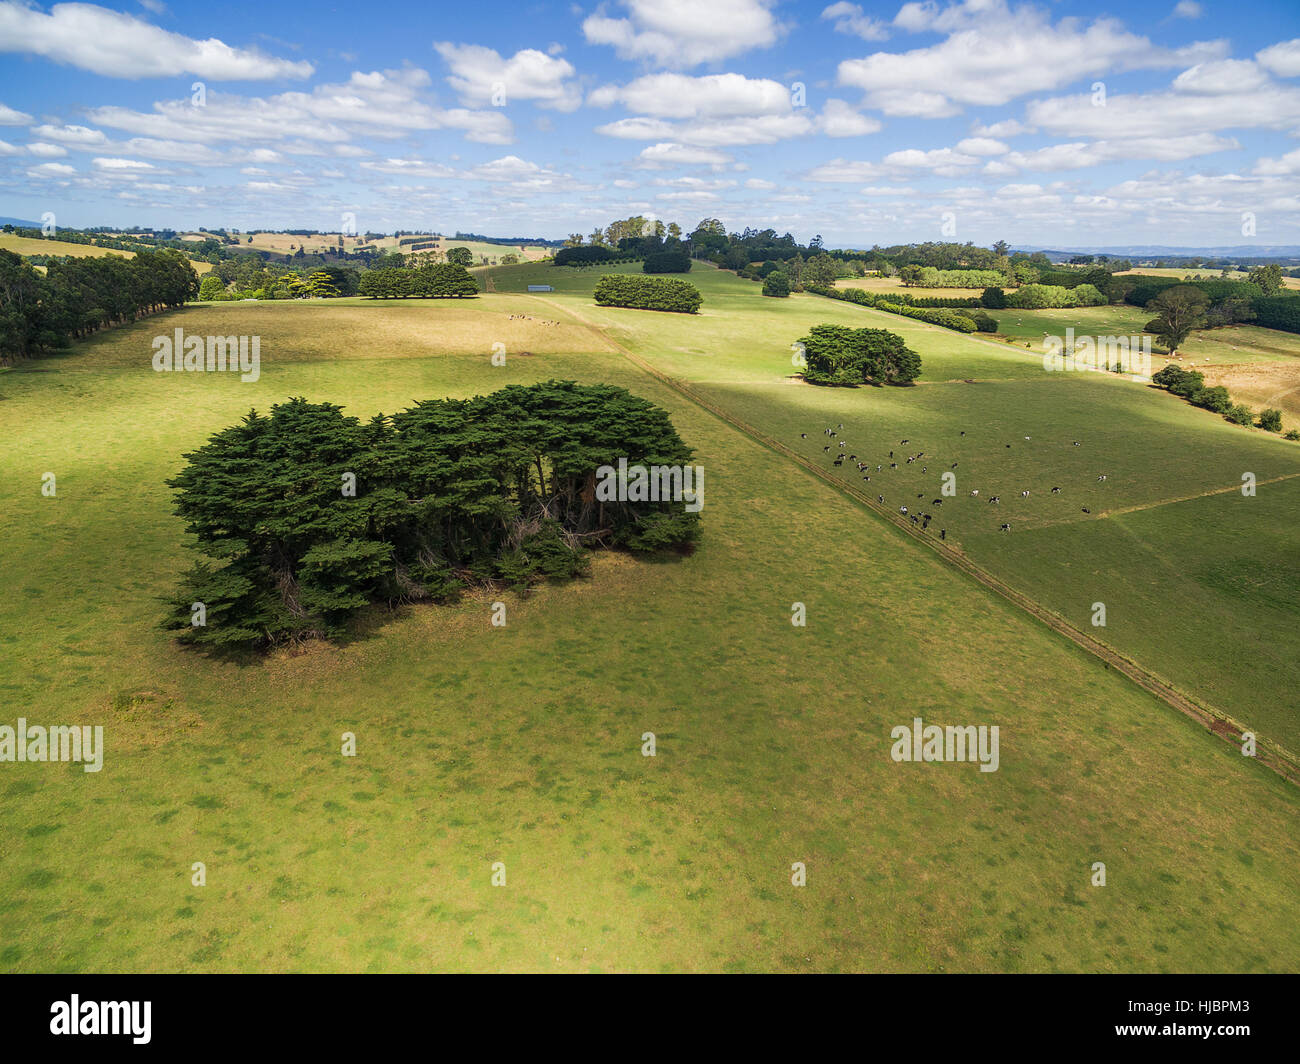
[[[199,293],[199,277],[179,251],[68,258],[44,276],[0,251],[0,359],[66,347],[109,325],[179,307]]]

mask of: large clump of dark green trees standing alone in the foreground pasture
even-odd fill
[[[365,423],[295,398],[186,459],[169,484],[207,557],[164,627],[191,644],[330,637],[370,604],[524,588],[581,574],[588,548],[660,552],[698,533],[681,499],[598,490],[619,459],[690,459],[667,412],[610,385],[512,385]]]

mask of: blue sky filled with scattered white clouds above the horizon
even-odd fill
[[[1300,0],[0,0],[0,215],[1300,243]]]

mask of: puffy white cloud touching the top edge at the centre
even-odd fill
[[[624,0],[627,18],[602,5],[582,22],[590,44],[612,46],[621,59],[689,68],[776,43],[783,27],[772,0]]]

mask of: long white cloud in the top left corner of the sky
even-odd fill
[[[198,74],[212,81],[306,78],[309,62],[195,40],[94,4],[55,4],[49,13],[16,0],[0,3],[0,51],[27,52],[110,78]]]

